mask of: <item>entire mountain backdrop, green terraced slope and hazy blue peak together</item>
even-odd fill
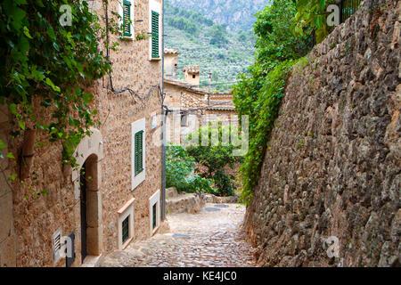
[[[197,64],[201,66],[202,88],[210,89],[212,92],[229,91],[238,73],[246,72],[254,60],[255,37],[251,25],[255,19],[252,16],[263,9],[268,2],[266,0],[198,0],[197,2],[166,0],[165,43],[167,48],[176,49],[180,53],[178,78],[184,78],[182,69],[185,65]],[[226,7],[227,3],[232,4],[230,9]],[[220,12],[217,12],[217,8]],[[205,16],[208,15],[209,9],[212,11],[210,16]],[[227,28],[230,23],[234,25],[236,18],[230,14],[238,13],[242,15],[239,17],[242,19],[237,19],[237,23],[241,22],[244,26],[241,28],[238,26],[236,29]],[[217,14],[222,15],[222,18],[213,16]],[[227,24],[217,23],[223,19],[230,21],[226,22]],[[211,85],[209,85],[209,73]]]

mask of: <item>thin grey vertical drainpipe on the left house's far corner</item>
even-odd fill
[[[161,220],[166,219],[166,115],[164,111],[164,0],[161,4],[161,118],[163,119],[161,126]]]

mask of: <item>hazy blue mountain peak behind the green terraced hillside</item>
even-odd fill
[[[270,0],[169,0],[182,9],[201,12],[229,30],[249,31],[255,22],[255,13],[266,7]]]

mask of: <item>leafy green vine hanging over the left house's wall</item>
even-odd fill
[[[62,27],[61,4],[70,4],[72,25]],[[106,31],[86,1],[4,0],[0,4],[0,103],[15,118],[12,135],[36,128],[49,142],[62,142],[63,162],[94,126],[93,94],[86,86],[110,73],[99,47]],[[36,117],[34,104],[52,121]]]

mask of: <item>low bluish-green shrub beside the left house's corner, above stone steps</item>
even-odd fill
[[[194,175],[195,159],[188,155],[183,146],[166,148],[166,186],[176,187],[177,191],[209,192],[216,194],[211,181]]]

